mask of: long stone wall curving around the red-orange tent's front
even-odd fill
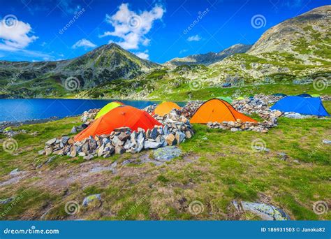
[[[106,158],[112,154],[136,153],[144,149],[179,145],[186,138],[193,136],[191,124],[185,117],[170,113],[163,122],[163,126],[155,126],[152,130],[145,131],[138,128],[137,131],[131,131],[128,127],[123,127],[115,129],[108,135],[90,136],[79,142],[68,136],[52,138],[45,143],[45,149],[39,154],[80,156],[90,160],[94,157]]]

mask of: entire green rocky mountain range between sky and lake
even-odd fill
[[[163,66],[115,44],[66,61],[0,61],[0,89],[2,97],[160,99],[165,94],[189,98],[224,82],[237,87],[311,83],[331,76],[330,23],[331,6],[322,6],[268,29],[253,46],[233,45]],[[64,89],[68,77],[78,78],[80,90]]]

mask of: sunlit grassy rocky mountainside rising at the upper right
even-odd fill
[[[315,8],[268,29],[245,54],[210,67],[223,73],[222,80],[226,75],[239,75],[251,82],[273,78],[274,74],[303,78],[330,72],[330,26],[331,6]]]

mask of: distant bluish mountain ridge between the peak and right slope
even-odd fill
[[[205,66],[208,66],[210,64],[213,64],[217,61],[221,61],[222,59],[226,57],[230,57],[237,53],[247,52],[247,50],[249,50],[250,48],[251,45],[235,44],[230,46],[230,48],[226,48],[217,53],[208,52],[205,54],[190,55],[187,57],[171,59],[170,61],[165,62],[163,66],[166,66],[168,68],[176,68],[177,66],[193,65],[193,64],[203,64]]]

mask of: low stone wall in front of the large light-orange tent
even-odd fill
[[[233,121],[223,121],[219,122],[208,122],[207,126],[211,129],[225,129],[230,131],[257,131],[260,133],[267,133],[267,131],[276,126],[277,124],[270,121],[263,122],[242,122],[241,119],[237,119],[236,122]]]

